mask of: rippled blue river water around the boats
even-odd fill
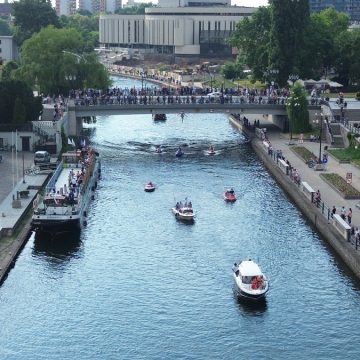
[[[359,357],[358,282],[225,115],[90,127],[103,178],[88,226],[57,245],[30,236],[0,288],[0,359]],[[171,213],[186,197],[193,225]],[[260,306],[233,293],[232,264],[249,257],[270,278]]]

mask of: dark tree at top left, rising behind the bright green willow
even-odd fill
[[[12,15],[15,17],[15,40],[19,45],[48,25],[60,27],[59,18],[51,6],[50,0],[14,2]]]

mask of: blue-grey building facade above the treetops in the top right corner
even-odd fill
[[[310,11],[320,12],[328,7],[344,12],[350,16],[351,21],[360,21],[360,0],[309,0]]]

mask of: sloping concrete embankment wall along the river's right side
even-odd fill
[[[248,133],[246,129],[243,129],[242,124],[235,118],[231,117],[230,121],[241,131]],[[248,133],[248,136],[251,139],[251,146],[259,159],[264,163],[269,173],[275,178],[277,183],[309,220],[315,230],[335,250],[344,263],[353,271],[355,276],[360,279],[360,256],[351,243],[341,237],[328,220],[313,206],[311,201],[307,199],[300,189],[290,181],[288,176],[276,166],[270,156],[264,151],[260,139],[251,135],[252,134]],[[289,241],[293,241],[293,239],[289,238]]]

